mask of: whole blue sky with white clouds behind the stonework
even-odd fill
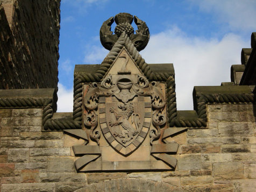
[[[119,12],[146,22],[151,39],[140,54],[147,63],[174,64],[177,109],[193,109],[194,86],[230,81],[256,31],[255,7],[255,0],[61,0],[58,111],[72,111],[75,65],[99,64],[108,54],[99,29]]]

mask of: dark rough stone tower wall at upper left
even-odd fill
[[[57,88],[60,0],[0,2],[0,89]]]

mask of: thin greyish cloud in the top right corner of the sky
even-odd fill
[[[255,0],[189,0],[198,4],[203,12],[214,13],[220,22],[226,22],[232,30],[255,30]]]

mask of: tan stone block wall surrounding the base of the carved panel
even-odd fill
[[[255,191],[255,105],[212,104],[207,113],[205,129],[168,139],[180,144],[173,171],[76,173],[72,146],[83,139],[41,132],[40,108],[0,109],[1,191]]]

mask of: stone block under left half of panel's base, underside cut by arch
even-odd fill
[[[101,181],[120,179],[126,177],[126,173],[87,173],[87,183],[98,183]]]

